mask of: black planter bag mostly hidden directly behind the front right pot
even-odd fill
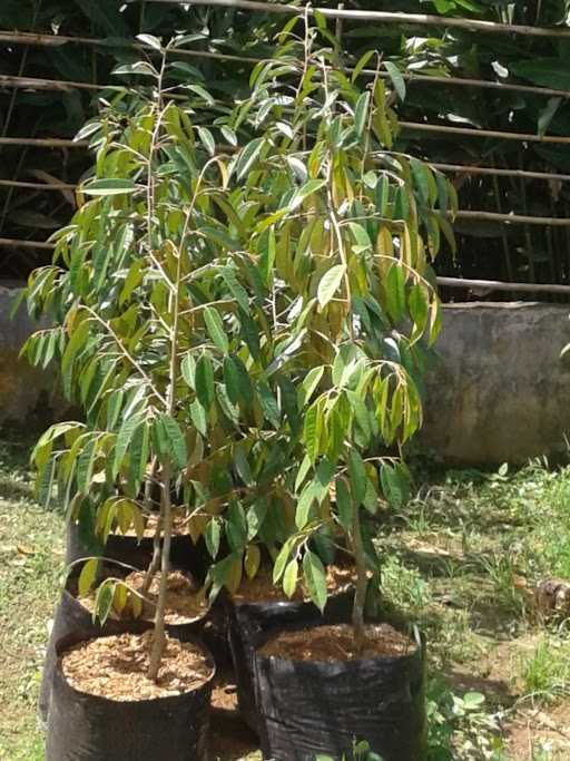
[[[259,734],[255,697],[254,652],[273,632],[303,628],[317,624],[350,621],[354,592],[346,591],[328,598],[324,614],[309,602],[228,602],[229,647],[236,674],[237,702],[243,720]]]

